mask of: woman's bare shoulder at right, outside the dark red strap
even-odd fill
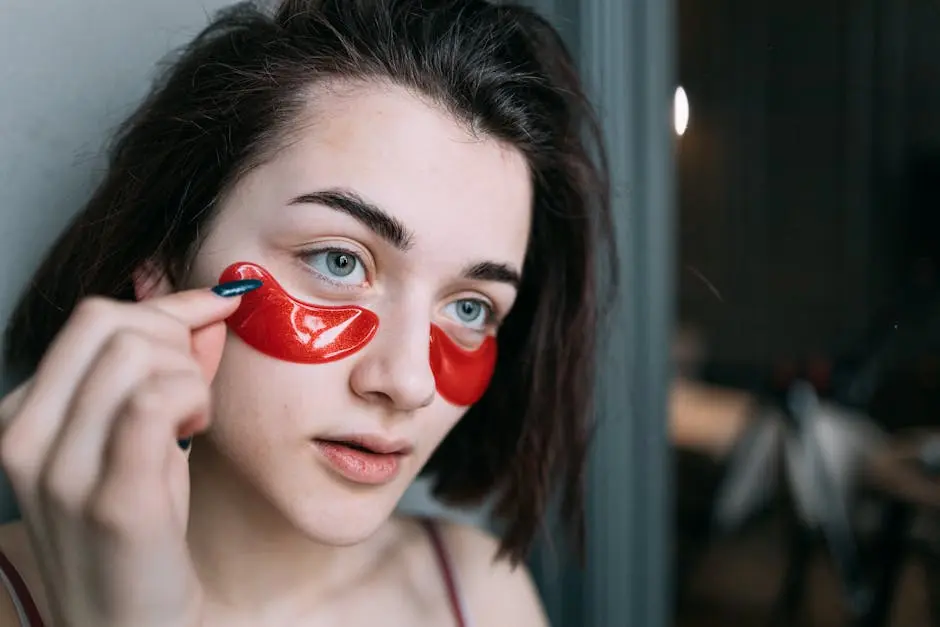
[[[547,627],[538,591],[524,564],[496,559],[499,541],[477,527],[441,522],[442,539],[472,620],[478,625]]]

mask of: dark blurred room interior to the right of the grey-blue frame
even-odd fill
[[[677,2],[677,624],[940,624],[938,29]]]

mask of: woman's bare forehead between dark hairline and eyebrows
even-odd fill
[[[312,106],[311,122],[249,175],[247,207],[346,190],[404,224],[416,250],[490,252],[521,265],[532,204],[521,152],[401,88],[327,90]]]

